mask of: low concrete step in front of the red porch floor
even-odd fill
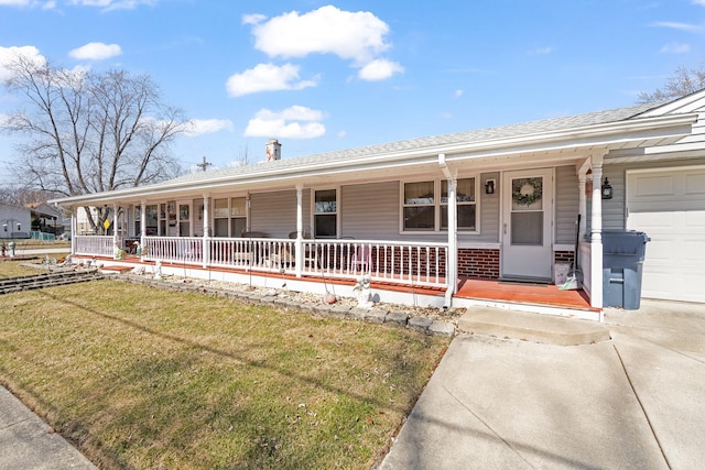
[[[610,339],[604,324],[491,307],[470,307],[458,319],[459,334],[494,336],[560,346]]]

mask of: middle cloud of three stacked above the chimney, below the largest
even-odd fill
[[[315,86],[315,80],[299,80],[299,66],[292,64],[259,64],[241,74],[231,75],[226,81],[228,95],[232,97],[259,91],[300,90]]]

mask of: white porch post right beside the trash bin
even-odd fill
[[[603,154],[593,155],[593,211],[590,215],[590,306],[603,308]]]

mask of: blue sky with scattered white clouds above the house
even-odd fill
[[[705,0],[0,0],[0,79],[18,52],[147,74],[191,168],[631,106],[704,40]],[[18,105],[0,88],[0,122]]]

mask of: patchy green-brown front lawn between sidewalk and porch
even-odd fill
[[[102,468],[369,468],[448,345],[113,281],[0,321],[0,382]]]

